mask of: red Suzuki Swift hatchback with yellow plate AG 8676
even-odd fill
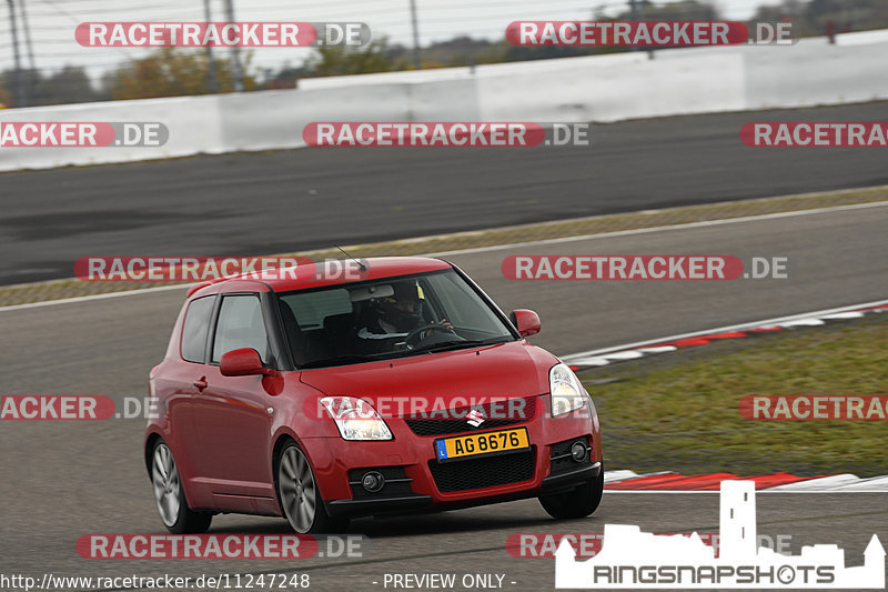
[[[163,361],[144,459],[163,524],[282,515],[300,533],[354,516],[538,498],[598,506],[598,418],[573,371],[437,259],[321,264],[192,287]]]

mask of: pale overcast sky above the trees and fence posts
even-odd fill
[[[201,21],[203,0],[13,0],[24,3],[31,32],[34,62],[39,69],[57,70],[64,64],[85,66],[91,77],[131,58],[144,56],[133,48],[83,48],[74,41],[74,28],[84,21]],[[224,0],[210,0],[213,20],[225,20]],[[758,4],[777,0],[707,0],[727,19],[749,18]],[[416,0],[420,43],[428,44],[455,36],[497,40],[513,20],[589,19],[603,7],[609,13],[625,10],[625,0]],[[412,46],[410,0],[234,0],[239,21],[362,21],[374,38],[387,36],[391,42]],[[12,68],[12,40],[7,2],[0,1],[0,70]],[[29,59],[24,50],[19,16],[22,67]],[[253,64],[279,69],[289,62],[302,63],[311,49],[253,50]]]

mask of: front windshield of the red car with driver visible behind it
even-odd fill
[[[453,270],[279,297],[299,368],[342,365],[502,343],[500,315]]]

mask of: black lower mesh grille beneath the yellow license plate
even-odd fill
[[[509,454],[440,463],[428,469],[442,493],[521,483],[534,478],[534,449]]]

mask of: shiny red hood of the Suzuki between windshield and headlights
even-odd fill
[[[548,392],[557,358],[526,341],[418,354],[301,372],[300,380],[329,395],[428,398],[445,403],[467,398],[513,399]]]

